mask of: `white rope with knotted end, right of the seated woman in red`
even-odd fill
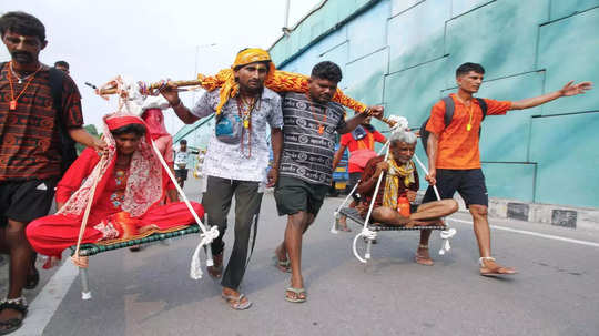
[[[195,251],[194,251],[193,256],[192,256],[191,265],[190,265],[190,277],[193,278],[193,279],[200,279],[200,278],[202,278],[202,262],[200,261],[200,250],[202,250],[201,248],[202,246],[210,245],[212,243],[212,241],[214,241],[219,236],[219,228],[216,226],[213,226],[210,230],[206,230],[206,227],[204,226],[204,224],[200,220],[200,216],[195,213],[195,210],[193,210],[193,206],[191,205],[190,201],[187,200],[187,196],[185,196],[185,193],[183,193],[183,190],[181,189],[181,186],[176,182],[176,179],[174,177],[173,172],[171,172],[171,167],[166,164],[166,162],[164,161],[164,157],[162,157],[162,154],[160,153],[160,150],[158,149],[154,141],[152,141],[152,149],[154,149],[154,153],[156,154],[160,163],[162,164],[162,166],[166,171],[166,174],[169,175],[169,177],[173,182],[176,191],[179,192],[179,194],[183,198],[183,202],[185,202],[185,205],[190,210],[193,218],[197,223],[197,226],[200,226],[200,230],[202,231],[202,233],[200,234],[200,243],[197,244],[197,247],[195,247]],[[209,264],[209,265],[213,264],[211,254],[207,255],[206,264]]]

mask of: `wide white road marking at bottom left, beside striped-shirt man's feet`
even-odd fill
[[[48,323],[67,295],[71,284],[77,277],[79,268],[69,259],[60,267],[50,281],[43,286],[38,296],[29,305],[29,313],[23,326],[11,335],[37,336],[43,333]]]

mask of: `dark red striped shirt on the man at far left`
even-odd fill
[[[50,90],[49,68],[43,65],[11,111],[10,101],[23,90],[29,79],[18,83],[9,63],[0,70],[0,182],[8,180],[49,179],[60,176],[61,141]],[[81,128],[81,95],[67,75],[62,88],[62,120],[64,125]]]

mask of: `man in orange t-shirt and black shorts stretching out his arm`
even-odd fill
[[[456,70],[458,92],[450,94],[455,111],[448,125],[445,124],[445,102],[437,102],[432,111],[426,130],[430,132],[427,142],[428,171],[426,180],[430,184],[423,203],[436,201],[433,190],[437,185],[441,198],[453,198],[456,191],[466,202],[474,221],[474,231],[480,253],[480,275],[514,274],[511,267],[502,267],[490,253],[490,231],[487,220],[488,195],[485,176],[480,169],[478,139],[483,110],[473,95],[478,92],[485,69],[480,64],[464,63]],[[484,99],[488,115],[506,114],[509,110],[524,110],[547,103],[561,96],[585,93],[592,88],[591,82],[573,84],[568,82],[558,91],[520,101],[496,101]],[[420,233],[422,242],[428,242],[430,231]],[[423,247],[424,246],[424,247]],[[420,246],[422,264],[432,265],[428,245]]]

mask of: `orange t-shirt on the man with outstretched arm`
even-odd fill
[[[474,170],[480,167],[480,151],[478,150],[478,130],[483,121],[483,110],[478,100],[473,99],[470,106],[466,108],[454,93],[455,110],[451,123],[445,126],[445,103],[438,101],[430,110],[430,119],[426,130],[439,135],[437,150],[437,169],[445,170]],[[485,99],[487,115],[506,114],[511,108],[509,101]],[[470,123],[471,129],[467,131]]]

